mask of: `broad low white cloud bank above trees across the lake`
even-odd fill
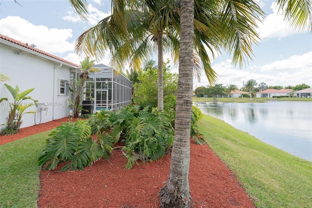
[[[268,85],[295,86],[306,83],[312,86],[312,51],[295,55],[289,59],[272,62],[263,66],[250,66],[246,69],[236,69],[231,60],[218,62],[212,66],[217,73],[217,82],[224,86],[236,84],[239,88],[243,82],[254,79],[257,83],[267,83]],[[209,85],[205,76],[201,82],[194,80],[194,89],[198,86]]]

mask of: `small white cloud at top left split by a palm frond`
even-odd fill
[[[98,10],[98,8],[94,7],[92,4],[88,4],[88,23],[90,25],[96,25],[98,21],[108,17],[109,13],[104,13]],[[80,17],[72,10],[66,12],[66,16],[63,17],[66,21],[71,22],[82,22]]]

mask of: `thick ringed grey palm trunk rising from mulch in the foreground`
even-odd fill
[[[188,208],[190,135],[193,92],[194,0],[181,0],[179,76],[176,94],[175,140],[169,178],[159,191],[160,208]]]

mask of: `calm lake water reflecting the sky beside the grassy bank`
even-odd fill
[[[204,114],[312,161],[312,102],[196,104]]]

